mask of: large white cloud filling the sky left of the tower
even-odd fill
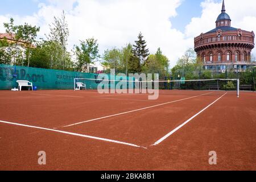
[[[69,49],[79,40],[94,37],[100,44],[100,52],[106,48],[122,47],[134,43],[142,32],[151,53],[160,47],[175,64],[175,60],[188,47],[189,41],[182,32],[171,27],[170,17],[176,16],[180,0],[48,0],[39,4],[38,13],[32,16],[2,15],[3,22],[10,17],[15,23],[28,22],[40,26],[39,36],[48,34],[48,25],[53,16],[59,16],[64,9],[69,24]],[[76,3],[75,3],[76,2]],[[74,4],[75,3],[75,4]],[[76,5],[76,6],[74,6]]]

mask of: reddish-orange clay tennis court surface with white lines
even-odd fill
[[[0,131],[1,170],[256,170],[253,92],[1,91]]]

